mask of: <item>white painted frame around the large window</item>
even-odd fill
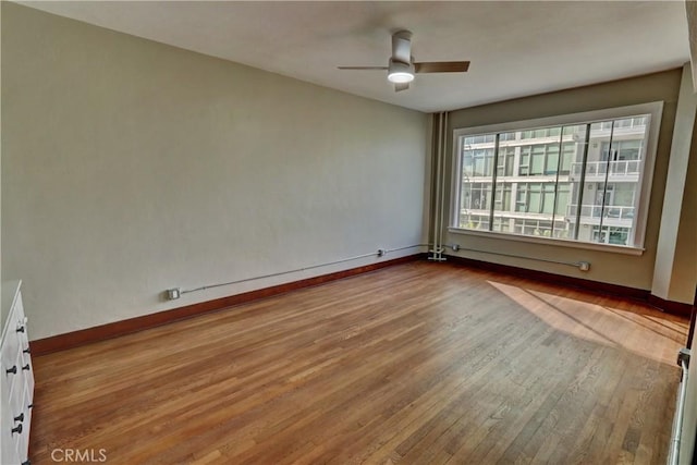
[[[628,117],[636,117],[637,114],[649,114],[649,127],[646,137],[646,159],[644,160],[643,169],[639,173],[639,200],[637,203],[637,211],[635,212],[635,236],[634,244],[619,245],[619,244],[602,244],[582,242],[577,240],[562,238],[562,237],[537,237],[526,236],[522,234],[514,234],[511,232],[501,231],[480,231],[480,230],[467,230],[458,228],[460,212],[457,207],[460,205],[458,195],[461,194],[461,178],[462,178],[462,164],[460,154],[462,152],[463,136],[470,135],[490,135],[498,133],[510,133],[515,131],[536,131],[549,126],[563,126],[574,124],[588,124],[595,122],[602,122],[607,120],[616,120]],[[648,208],[651,199],[651,187],[653,183],[653,171],[656,164],[656,152],[658,148],[658,136],[661,127],[661,117],[663,114],[663,101],[652,101],[647,103],[632,105],[625,107],[606,108],[592,111],[559,114],[553,117],[545,117],[530,120],[511,121],[497,124],[487,124],[472,127],[458,127],[453,130],[453,145],[452,145],[452,162],[453,167],[451,176],[451,196],[450,196],[450,218],[448,220],[448,231],[456,234],[469,234],[487,237],[499,237],[510,241],[545,243],[549,245],[597,249],[606,252],[614,252],[629,255],[641,255],[645,250],[646,228],[648,223]],[[496,136],[494,136],[496,137]],[[560,163],[562,159],[563,147],[560,146],[559,157]],[[494,163],[496,164],[496,163]],[[492,167],[496,173],[498,167]],[[519,175],[519,173],[518,173]],[[496,179],[496,176],[493,176]],[[493,197],[492,185],[492,197]],[[492,200],[494,200],[492,198]],[[514,201],[515,199],[512,199]]]

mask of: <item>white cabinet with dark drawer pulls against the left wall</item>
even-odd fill
[[[2,283],[0,340],[0,464],[28,464],[34,371],[21,281]]]

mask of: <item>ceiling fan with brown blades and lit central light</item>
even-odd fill
[[[412,57],[412,33],[398,30],[392,34],[392,57],[387,66],[338,66],[340,70],[386,70],[388,81],[394,83],[394,91],[406,90],[416,73],[463,73],[468,61],[415,62]]]

